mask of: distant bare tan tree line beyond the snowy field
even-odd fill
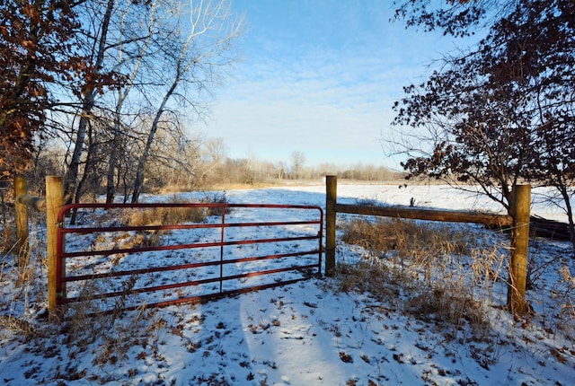
[[[180,148],[178,148],[180,147]],[[46,175],[65,175],[66,150],[57,146],[46,146],[37,153],[36,167],[27,171],[31,190],[42,192]],[[393,171],[385,166],[358,162],[353,165],[321,163],[305,166],[305,156],[290,162],[268,162],[251,158],[231,158],[222,138],[189,139],[185,144],[176,144],[173,138],[161,132],[152,149],[155,154],[146,166],[143,191],[185,191],[192,189],[213,189],[234,185],[281,184],[288,180],[322,180],[326,175],[337,175],[343,180],[392,181],[401,179],[403,172]],[[295,162],[296,161],[296,162]],[[99,172],[89,173],[91,178],[83,181],[84,201],[102,197],[107,192],[106,162],[94,164]],[[131,201],[133,174],[128,165],[122,168],[121,178],[116,183],[116,199]]]

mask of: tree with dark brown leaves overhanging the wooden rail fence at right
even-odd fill
[[[410,0],[396,14],[426,31],[488,30],[476,47],[447,58],[395,103],[394,124],[419,130],[415,139],[429,145],[404,144],[405,170],[411,177],[472,182],[508,209],[518,181],[553,186],[566,206],[575,249],[572,1],[449,0],[438,9]]]

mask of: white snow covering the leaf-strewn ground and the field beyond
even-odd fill
[[[181,198],[210,194],[189,193]],[[534,190],[534,197],[544,194],[544,189]],[[226,197],[232,203],[324,206],[325,187],[318,183],[229,190]],[[417,206],[501,212],[489,200],[445,186],[338,186],[341,203],[408,206],[411,197]],[[144,199],[157,202],[171,197]],[[537,215],[562,219],[557,206],[534,201]],[[238,210],[234,215],[270,221],[266,213],[256,218],[253,212]],[[338,215],[339,222],[343,218]],[[470,232],[488,232],[475,225],[456,225]],[[36,224],[34,232],[37,245],[33,248],[38,251],[33,264],[38,268],[44,230]],[[170,234],[172,241],[179,237]],[[80,240],[72,242],[87,242]],[[291,247],[270,244],[265,248],[270,250],[262,252],[277,253]],[[571,269],[571,276],[575,272],[570,248],[569,243],[557,241],[532,242],[537,280],[534,289],[527,291],[527,300],[534,314],[514,319],[501,308],[506,288],[493,284],[486,308],[492,327],[483,339],[474,339],[463,322],[450,327],[441,320],[416,318],[374,294],[338,291],[337,280],[326,277],[208,303],[85,316],[76,324],[57,326],[36,318],[46,307],[45,270],[38,269],[31,284],[17,287],[13,285],[16,269],[4,257],[0,382],[10,386],[570,385],[575,382],[575,326],[572,319],[557,317],[566,315],[558,307],[573,304],[575,285],[566,287],[559,273],[564,266]],[[366,256],[366,251],[338,241],[338,262],[353,264]],[[97,261],[93,263],[97,266]]]

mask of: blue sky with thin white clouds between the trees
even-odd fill
[[[461,43],[389,22],[391,0],[234,0],[243,60],[214,90],[209,137],[228,155],[305,165],[385,165],[382,140],[404,85]]]

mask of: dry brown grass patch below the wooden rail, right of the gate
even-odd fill
[[[356,265],[338,266],[342,291],[368,292],[397,311],[454,329],[466,323],[476,339],[488,335],[488,306],[476,292],[498,278],[505,259],[498,246],[486,248],[464,227],[437,223],[356,219],[342,229],[343,241],[370,252]]]

